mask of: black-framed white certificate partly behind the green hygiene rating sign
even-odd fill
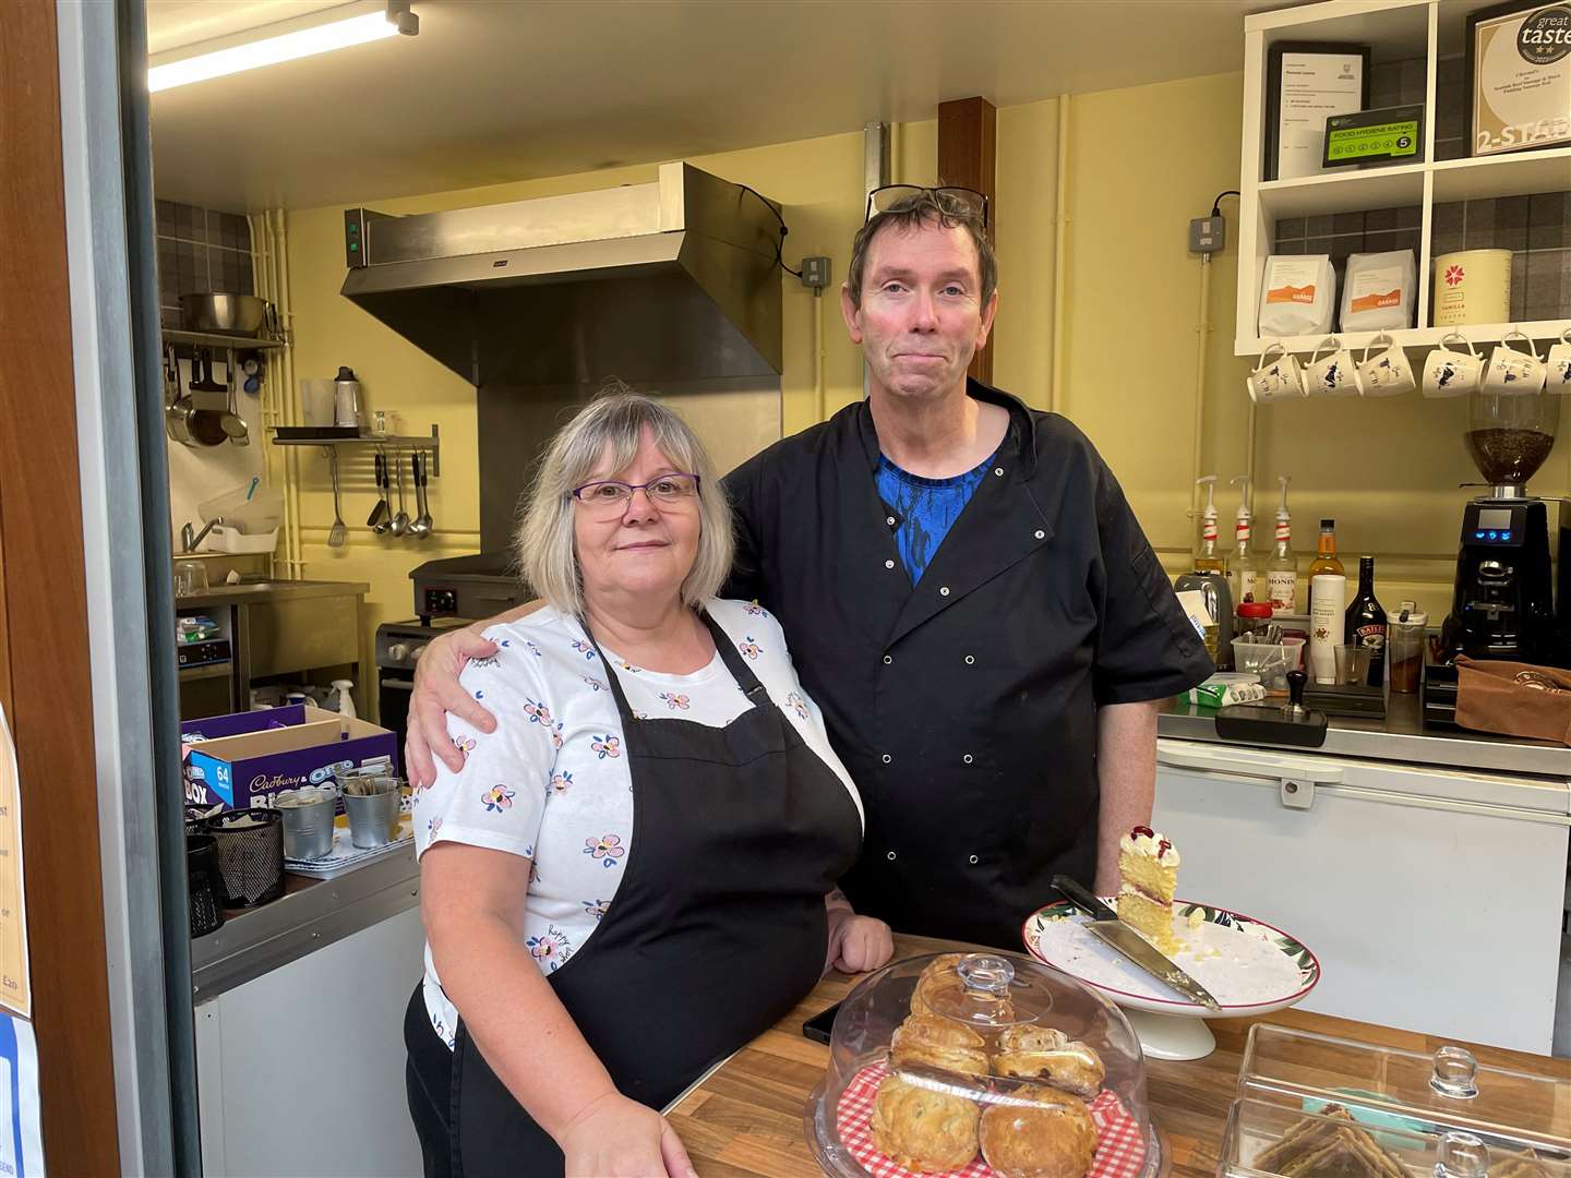
[[[1266,57],[1266,154],[1262,177],[1285,181],[1321,171],[1326,119],[1368,105],[1370,47],[1279,41]]]

